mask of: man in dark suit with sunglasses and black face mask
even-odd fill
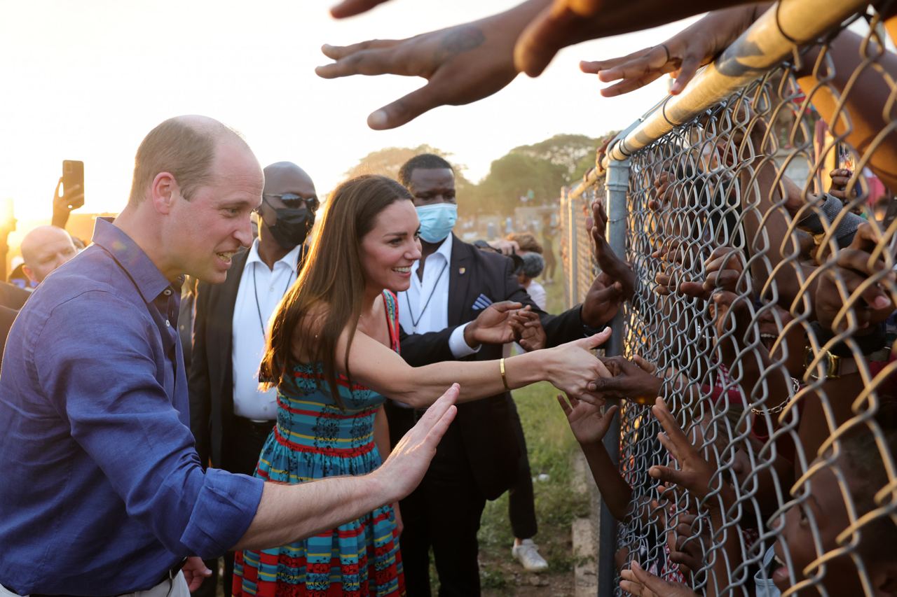
[[[251,475],[277,418],[276,391],[258,390],[267,323],[296,281],[318,196],[299,166],[265,169],[258,238],[233,255],[222,284],[196,290],[189,371],[190,427],[196,452],[214,468]],[[224,558],[224,594],[231,594],[233,554]]]

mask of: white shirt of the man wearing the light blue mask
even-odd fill
[[[411,266],[411,288],[398,293],[398,322],[405,333],[441,332],[448,327],[448,277],[451,268],[452,235],[427,256],[423,280],[417,276],[420,261]],[[456,359],[480,350],[464,340],[467,324],[459,325],[448,338],[448,348]]]

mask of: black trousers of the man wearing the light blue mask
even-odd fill
[[[395,443],[414,426],[419,413],[389,405],[389,432]],[[440,579],[440,597],[480,594],[477,562],[480,517],[486,498],[467,462],[461,434],[451,425],[421,485],[399,503],[405,530],[399,540],[408,597],[430,597],[430,549]]]

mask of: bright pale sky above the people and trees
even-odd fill
[[[410,37],[514,4],[393,0],[337,22],[325,0],[8,1],[0,22],[0,200],[13,199],[22,224],[48,220],[62,160],[83,160],[83,211],[117,212],[138,143],[179,114],[222,120],[245,135],[262,165],[295,161],[324,194],[382,147],[429,143],[478,180],[515,146],[622,128],[662,97],[666,81],[600,98],[597,79],[580,74],[578,62],[657,44],[684,22],[567,48],[538,79],[521,75],[492,98],[437,108],[387,132],[371,131],[367,115],[422,80],[327,81],[313,72],[327,62],[323,43]]]

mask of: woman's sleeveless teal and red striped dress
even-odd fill
[[[396,297],[383,293],[389,337],[398,351]],[[376,469],[374,415],[384,398],[339,377],[345,410],[330,395],[320,364],[294,369],[295,384],[277,394],[277,425],[259,456],[256,477],[301,483]],[[320,385],[320,387],[318,387]],[[237,553],[234,595],[404,595],[392,506],[278,549]]]

